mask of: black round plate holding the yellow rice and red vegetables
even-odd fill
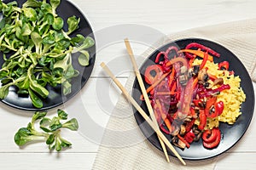
[[[232,54],[229,49],[224,48],[223,46],[219,45],[216,42],[210,42],[204,39],[196,39],[196,38],[177,40],[176,42],[168,43],[165,46],[159,48],[153,54],[151,54],[148,57],[148,59],[143,63],[143,65],[140,68],[141,73],[144,73],[148,65],[153,64],[156,54],[158,54],[160,51],[166,51],[166,48],[172,45],[176,45],[178,48],[185,48],[185,46],[190,42],[198,42],[217,51],[221,55],[221,57],[214,58],[215,62],[221,62],[223,60],[229,61],[230,70],[235,71],[236,76],[241,77],[241,88],[244,90],[244,93],[247,95],[246,101],[241,105],[242,114],[237,118],[236,123],[232,126],[228,125],[227,123],[223,123],[223,122],[220,123],[219,128],[222,132],[223,138],[221,139],[221,142],[217,148],[212,150],[207,150],[203,147],[201,140],[198,142],[192,143],[189,149],[186,148],[185,150],[181,150],[176,147],[177,152],[179,153],[180,156],[183,157],[183,159],[202,160],[202,159],[211,158],[213,156],[218,156],[219,154],[224,153],[224,151],[229,150],[241,139],[243,134],[246,132],[247,127],[249,126],[253,117],[253,109],[254,109],[253,83],[244,65],[241,64],[241,61],[237,59],[236,55]],[[143,74],[142,74],[142,77],[143,77]],[[133,85],[132,96],[134,99],[137,100],[138,103],[141,103],[141,106],[143,107],[144,111],[148,111],[146,109],[147,107],[145,105],[145,102],[142,102],[139,99],[140,95],[141,95],[141,92],[140,92],[139,84],[136,79]],[[140,116],[140,114],[135,109],[134,111],[135,111],[134,116],[136,118],[137,124],[143,131],[143,134],[146,137],[148,137],[148,140],[150,143],[154,144],[154,146],[159,150],[162,150],[160,146],[160,142],[156,134],[153,133],[151,127],[149,127],[147,122],[144,122],[143,117]],[[168,136],[166,137],[167,139],[170,139],[170,137]],[[168,151],[168,154],[173,156],[170,150]]]

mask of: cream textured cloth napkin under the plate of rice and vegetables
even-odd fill
[[[241,20],[217,26],[207,26],[177,32],[162,38],[154,48],[142,54],[145,59],[155,48],[181,38],[196,37],[218,42],[241,60],[253,81],[256,81],[256,19]],[[137,61],[142,64],[142,60]],[[131,74],[125,88],[130,90],[135,76]],[[175,157],[170,163],[160,150],[143,136],[133,116],[131,105],[120,96],[112,116],[109,118],[102,145],[98,150],[93,169],[214,169],[218,158],[205,161],[186,161],[183,166]]]

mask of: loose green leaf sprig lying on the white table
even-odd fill
[[[79,124],[75,118],[62,123],[61,121],[67,120],[67,113],[61,110],[57,112],[58,116],[54,116],[52,119],[45,117],[47,112],[35,112],[32,121],[15,133],[15,143],[23,146],[35,141],[44,141],[49,145],[49,150],[56,151],[71,146],[72,144],[69,141],[61,137],[61,128],[76,131]],[[35,127],[36,122],[39,122],[40,131]]]

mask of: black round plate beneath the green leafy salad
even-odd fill
[[[11,0],[4,1],[4,3],[11,2]],[[17,1],[19,3],[19,6],[21,6],[23,3],[26,2],[26,0],[19,0]],[[90,27],[90,23],[84,15],[79,11],[78,8],[76,8],[73,3],[70,3],[67,0],[61,0],[60,6],[57,8],[57,14],[61,16],[63,20],[67,20],[70,16],[77,16],[80,18],[79,23],[79,29],[74,31],[73,34],[70,36],[76,36],[77,34],[82,34],[84,36],[90,35],[90,37],[94,38],[92,29]],[[2,14],[0,14],[2,15]],[[64,24],[64,30],[67,31],[67,23]],[[3,99],[2,102],[4,104],[10,105],[12,107],[15,107],[20,110],[26,110],[26,111],[39,111],[39,110],[49,110],[51,108],[54,108],[58,105],[61,105],[65,102],[67,102],[68,99],[73,98],[75,94],[78,94],[80,89],[84,87],[84,84],[87,82],[87,80],[90,77],[91,71],[93,70],[93,66],[96,59],[96,46],[93,46],[88,49],[90,53],[90,65],[83,67],[79,65],[78,57],[79,54],[73,54],[73,67],[74,69],[78,70],[80,72],[79,77],[73,77],[72,79],[72,93],[68,94],[67,96],[64,96],[61,93],[61,85],[57,86],[56,88],[47,86],[46,88],[49,90],[49,97],[47,99],[43,99],[44,106],[43,108],[35,108],[32,105],[31,99],[29,97],[21,97],[18,94],[16,94],[15,87],[9,88],[9,94],[7,98]],[[0,65],[3,65],[3,54],[0,54]]]

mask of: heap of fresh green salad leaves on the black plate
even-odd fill
[[[64,20],[56,14],[61,0],[27,0],[18,7],[17,2],[3,3],[0,10],[0,51],[4,63],[0,70],[2,87],[0,99],[9,94],[9,87],[18,88],[18,94],[27,94],[32,104],[43,107],[42,98],[47,98],[47,84],[62,85],[64,95],[71,93],[71,79],[79,71],[73,68],[72,54],[80,53],[79,63],[89,65],[90,54],[86,50],[95,42],[91,37],[73,35],[79,28],[79,18]]]

